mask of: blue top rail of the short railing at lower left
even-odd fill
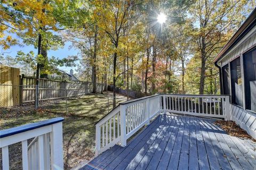
[[[57,118],[53,118],[53,119],[43,120],[41,122],[30,123],[30,124],[26,124],[26,125],[22,125],[22,126],[18,126],[18,127],[5,129],[5,130],[0,131],[0,138],[15,135],[15,134],[26,132],[26,131],[30,131],[30,130],[33,130],[33,129],[36,129],[39,127],[44,127],[47,125],[59,123],[59,122],[62,122],[63,120],[64,120],[63,117],[57,117]]]

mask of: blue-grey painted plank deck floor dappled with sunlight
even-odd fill
[[[256,169],[256,143],[213,123],[159,115],[126,147],[115,145],[81,169]]]

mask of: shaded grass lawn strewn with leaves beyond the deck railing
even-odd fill
[[[108,95],[111,94],[108,93]],[[126,101],[126,97],[117,95],[117,103],[121,101]],[[111,98],[109,98],[109,102],[109,109],[111,110]],[[79,162],[85,159],[90,160],[94,156],[94,124],[108,113],[107,103],[107,95],[84,95],[67,100],[68,113],[66,113],[66,100],[42,102],[38,110],[29,104],[21,107],[1,108],[0,129],[54,117],[64,117],[64,164],[65,169],[70,169]],[[10,155],[10,169],[20,169],[22,167],[21,144],[11,145],[10,152],[13,155]]]

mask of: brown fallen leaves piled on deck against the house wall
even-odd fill
[[[256,142],[256,140],[254,140],[249,134],[247,134],[247,132],[239,127],[234,121],[217,120],[214,122],[214,124],[220,126],[224,131],[227,132],[227,134],[231,136],[251,139]]]

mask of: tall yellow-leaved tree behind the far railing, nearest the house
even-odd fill
[[[201,60],[199,94],[204,94],[207,59],[229,40],[247,11],[244,9],[249,1],[198,0],[190,6],[191,21],[198,23],[190,30],[196,39],[195,51]]]

